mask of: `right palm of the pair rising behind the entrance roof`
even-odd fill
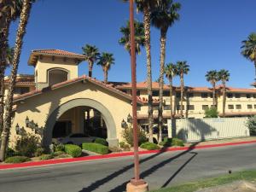
[[[102,55],[99,57],[99,61],[97,65],[102,66],[102,70],[104,72],[104,83],[108,83],[108,70],[110,69],[111,65],[114,64],[113,54],[103,52]]]

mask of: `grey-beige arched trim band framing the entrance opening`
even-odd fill
[[[102,105],[102,103],[96,102],[95,100],[79,98],[79,99],[74,99],[62,104],[61,106],[56,108],[52,113],[49,114],[49,118],[46,120],[44,137],[43,137],[43,145],[45,147],[51,144],[52,132],[53,132],[56,120],[59,119],[61,115],[67,112],[69,109],[81,107],[81,106],[95,108],[97,111],[102,113],[102,119],[104,119],[104,122],[107,126],[108,143],[110,146],[118,145],[115,123],[114,123],[112,114],[108,111],[108,108],[105,108]]]

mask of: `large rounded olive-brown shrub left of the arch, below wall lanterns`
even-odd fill
[[[21,156],[33,157],[38,148],[38,137],[32,134],[18,137],[15,142],[15,151]]]

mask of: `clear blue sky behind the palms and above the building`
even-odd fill
[[[166,62],[188,61],[185,84],[210,86],[205,74],[212,69],[230,70],[230,86],[249,87],[253,82],[253,63],[240,54],[241,41],[256,31],[255,0],[179,0],[181,18],[168,31]],[[115,64],[109,81],[130,81],[130,57],[118,44],[119,27],[129,19],[128,3],[121,0],[38,0],[32,7],[20,57],[19,73],[33,73],[27,66],[32,49],[65,49],[81,53],[84,44],[95,44],[113,53]],[[141,14],[136,15],[142,20]],[[10,30],[14,44],[17,23]],[[152,28],[153,80],[159,76],[160,32]],[[87,74],[84,61],[79,74]],[[94,67],[96,79],[103,79],[102,68]],[[137,81],[146,79],[145,50],[137,56]],[[167,83],[167,80],[166,80]],[[178,79],[174,81],[178,84]]]

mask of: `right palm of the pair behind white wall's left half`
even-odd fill
[[[189,65],[187,61],[177,61],[177,75],[180,78],[180,114],[181,118],[183,118],[183,92],[184,92],[184,74],[189,73]]]

